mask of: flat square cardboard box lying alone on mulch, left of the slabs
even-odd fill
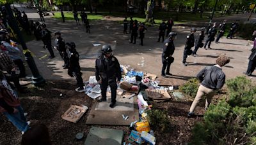
[[[76,123],[80,118],[83,116],[83,114],[86,112],[88,107],[81,107],[72,105],[68,108],[68,110],[61,116],[63,120],[67,120],[70,122]]]

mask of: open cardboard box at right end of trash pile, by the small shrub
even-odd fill
[[[146,89],[145,94],[148,98],[152,98],[153,100],[166,100],[171,99],[172,97],[167,92],[167,90],[150,90]]]

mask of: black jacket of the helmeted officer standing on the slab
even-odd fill
[[[122,78],[120,64],[114,56],[109,57],[108,59],[105,59],[103,56],[99,57],[95,61],[95,68],[97,81],[99,81],[100,78],[102,80],[115,80],[117,78],[117,80],[120,81]]]

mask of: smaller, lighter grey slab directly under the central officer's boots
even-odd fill
[[[114,108],[109,107],[111,103],[111,97],[107,97],[106,102],[97,103],[95,110],[103,111],[134,111],[134,99],[123,98],[122,95],[116,96],[116,106]]]

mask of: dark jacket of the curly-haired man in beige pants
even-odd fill
[[[201,84],[206,88],[211,88],[213,90],[220,89],[225,83],[225,74],[220,67],[208,66],[202,69],[196,78],[200,79]]]

